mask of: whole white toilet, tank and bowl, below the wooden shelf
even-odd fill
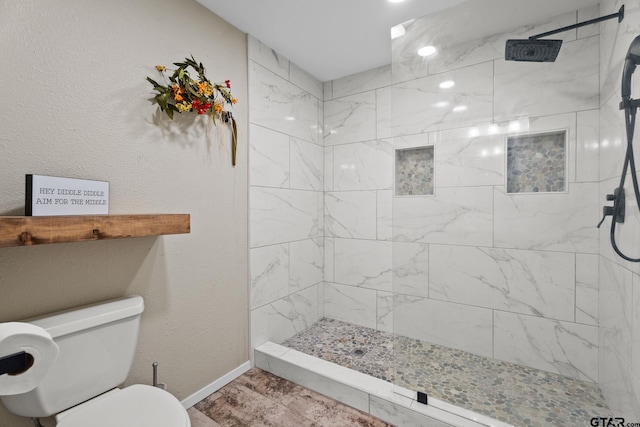
[[[143,310],[142,297],[132,296],[26,321],[49,332],[59,354],[35,389],[0,400],[24,417],[55,415],[56,427],[190,427],[172,394],[118,388],[133,364]]]

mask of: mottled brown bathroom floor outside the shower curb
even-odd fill
[[[259,368],[190,408],[189,418],[191,427],[389,425]]]

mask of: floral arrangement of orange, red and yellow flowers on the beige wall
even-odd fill
[[[151,102],[158,104],[160,111],[171,120],[174,113],[196,112],[200,115],[209,115],[214,125],[216,119],[229,123],[232,128],[231,163],[235,166],[238,131],[232,113],[225,110],[225,105],[233,106],[238,102],[231,95],[231,81],[211,83],[205,74],[204,66],[201,62],[197,62],[193,55],[191,58],[185,58],[184,62],[174,62],[173,65],[178,68],[170,76],[167,76],[164,65],[156,65],[156,70],[161,73],[165,84],[147,77],[147,81],[157,92]],[[190,69],[194,77],[191,76]]]

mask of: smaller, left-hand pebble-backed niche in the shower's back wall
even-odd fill
[[[396,196],[433,195],[433,145],[396,150]]]

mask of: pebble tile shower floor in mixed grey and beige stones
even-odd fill
[[[593,383],[338,320],[322,319],[283,345],[514,426],[612,416]]]

